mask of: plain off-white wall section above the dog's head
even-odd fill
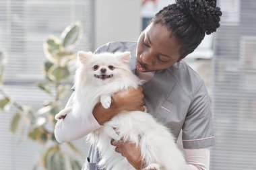
[[[96,0],[94,48],[110,41],[136,41],[141,32],[140,0]]]

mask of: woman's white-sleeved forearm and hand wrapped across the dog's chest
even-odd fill
[[[72,107],[74,94],[71,95],[65,108]],[[142,88],[127,89],[113,95],[113,102],[107,110],[99,103],[89,114],[88,119],[82,119],[82,114],[70,112],[65,118],[58,120],[55,126],[55,138],[58,142],[68,142],[82,138],[100,128],[104,122],[110,120],[121,110],[141,110],[143,111]]]

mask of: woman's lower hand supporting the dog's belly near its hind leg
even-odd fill
[[[111,144],[116,147],[115,151],[125,157],[135,169],[143,167],[139,146],[129,141],[124,142],[123,140],[111,140]]]

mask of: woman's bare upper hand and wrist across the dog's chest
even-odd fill
[[[102,125],[122,110],[144,111],[145,108],[143,107],[143,97],[142,87],[119,91],[113,95],[110,108],[106,110],[100,103],[98,103],[94,107],[92,113],[98,123]]]

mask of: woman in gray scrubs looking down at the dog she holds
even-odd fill
[[[67,114],[57,122],[57,140],[86,136],[121,110],[143,111],[146,104],[150,114],[166,124],[176,138],[182,130],[187,169],[209,169],[209,147],[214,144],[210,98],[202,79],[182,59],[197,48],[205,34],[216,31],[221,15],[216,1],[177,0],[156,13],[137,43],[110,42],[98,48],[96,52],[131,51],[131,69],[148,82],[140,89],[113,95],[108,110],[96,105],[86,122]],[[67,107],[71,104],[69,100]],[[135,169],[143,167],[139,148],[121,140],[111,144]],[[98,159],[91,147],[84,169],[97,169]]]

